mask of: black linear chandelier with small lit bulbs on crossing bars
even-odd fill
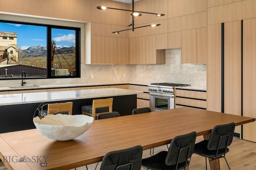
[[[145,25],[145,26],[141,26],[141,27],[134,27],[134,18],[135,17],[138,17],[138,16],[142,16],[142,14],[140,13],[145,13],[145,14],[154,14],[156,15],[156,17],[159,17],[159,16],[164,16],[164,14],[156,14],[156,13],[151,13],[151,12],[141,12],[141,11],[134,11],[134,0],[132,0],[132,10],[124,10],[124,9],[118,9],[118,8],[110,8],[110,7],[106,7],[106,6],[97,6],[97,8],[99,10],[106,10],[106,9],[112,9],[112,10],[122,10],[122,11],[130,11],[132,12],[131,16],[132,16],[132,22],[127,25],[127,27],[129,26],[132,26],[132,28],[130,29],[124,29],[124,30],[120,30],[120,31],[113,31],[111,33],[120,33],[122,31],[127,31],[127,30],[131,30],[134,31],[134,29],[136,28],[142,28],[142,27],[156,27],[156,26],[159,26],[161,24],[151,24],[151,25]]]

